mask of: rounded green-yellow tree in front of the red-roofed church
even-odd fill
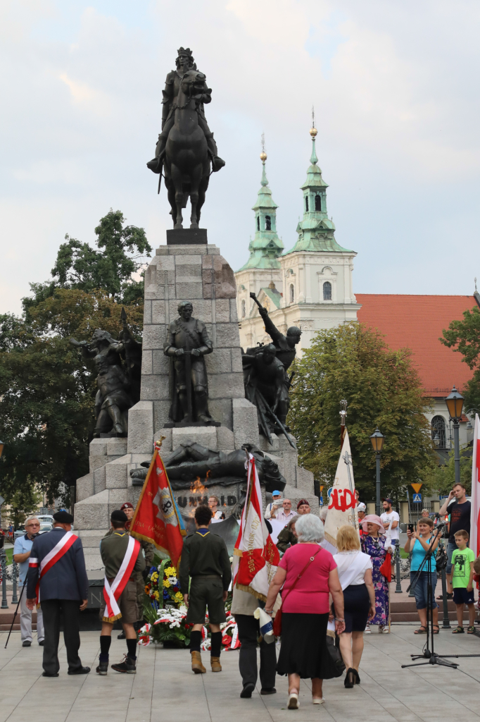
[[[295,362],[288,421],[303,466],[327,484],[339,458],[340,401],[348,401],[347,428],[355,486],[375,495],[375,453],[370,434],[385,436],[381,457],[382,495],[421,482],[435,463],[429,404],[408,349],[391,351],[382,336],[360,324],[320,331]]]

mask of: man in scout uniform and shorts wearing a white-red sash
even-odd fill
[[[136,671],[136,648],[137,648],[137,632],[135,631],[135,623],[138,620],[138,603],[137,603],[137,586],[135,582],[136,575],[142,573],[145,569],[145,560],[141,553],[140,543],[133,539],[125,529],[128,519],[125,513],[120,510],[112,511],[110,523],[112,531],[104,536],[100,542],[100,554],[102,554],[102,562],[105,565],[105,579],[110,584],[112,592],[114,591],[114,581],[117,576],[121,576],[121,567],[123,561],[128,560],[129,545],[135,543],[135,551],[131,554],[130,564],[125,565],[126,572],[130,570],[130,575],[123,588],[122,593],[116,599],[117,607],[120,610],[120,619],[122,621],[123,631],[127,640],[127,654],[123,662],[120,664],[112,664],[112,669],[117,672],[128,672],[135,674]],[[135,559],[136,555],[136,559]],[[133,560],[135,559],[135,563]],[[120,579],[118,579],[120,580]],[[112,629],[115,619],[110,617],[107,604],[104,599],[100,606],[99,617],[102,621],[102,632],[100,632],[100,655],[99,665],[97,666],[97,674],[105,675],[108,671],[108,652],[112,641]],[[115,615],[117,618],[117,615]]]

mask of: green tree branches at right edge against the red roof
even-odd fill
[[[463,356],[474,375],[463,389],[466,409],[480,409],[480,309],[463,311],[462,321],[452,321],[440,342]]]

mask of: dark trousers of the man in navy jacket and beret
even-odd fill
[[[42,601],[43,627],[45,641],[43,643],[43,669],[48,674],[56,674],[60,669],[58,663],[58,641],[60,640],[60,618],[63,616],[63,640],[67,651],[68,671],[81,667],[79,657],[80,632],[79,599],[45,599]]]

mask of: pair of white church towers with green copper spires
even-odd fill
[[[277,205],[272,199],[262,152],[262,181],[253,206],[255,235],[249,259],[236,271],[240,342],[244,348],[268,342],[253,292],[282,333],[289,326],[302,329],[302,348],[308,348],[316,331],[357,320],[360,305],[352,288],[355,251],[335,240],[335,226],[326,209],[326,188],[315,150],[316,128],[310,131],[312,152],[303,193],[303,219],[298,239],[288,251],[277,235]]]

